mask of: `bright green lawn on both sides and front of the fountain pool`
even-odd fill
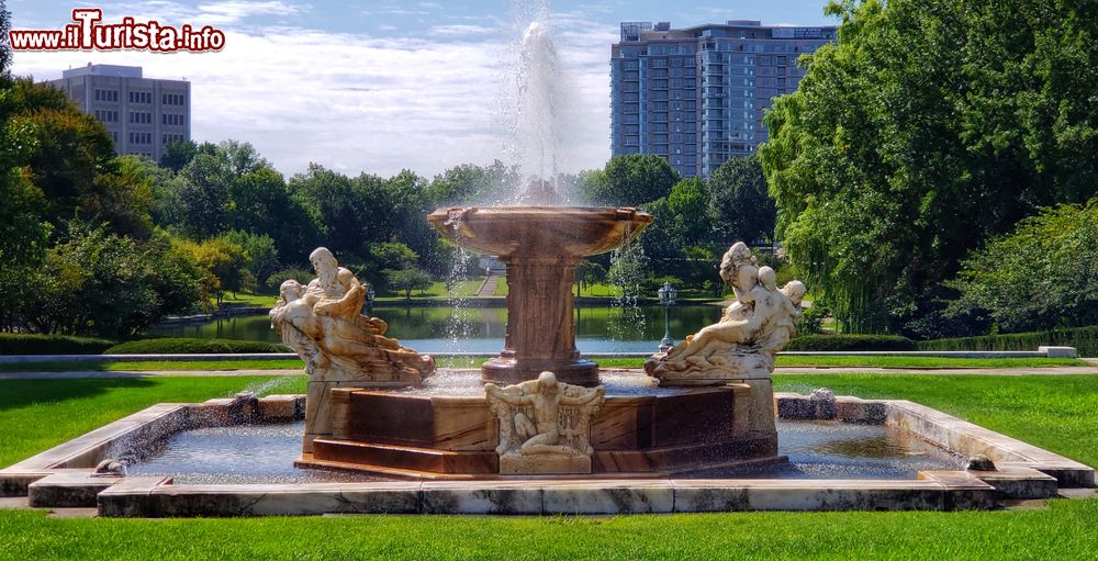
[[[0,381],[0,465],[158,401],[270,379]],[[284,382],[299,385],[301,377]],[[1098,375],[783,375],[897,397],[1098,463]],[[278,388],[281,393],[285,388]],[[1098,500],[964,513],[729,513],[615,517],[354,516],[53,519],[0,510],[2,559],[1096,559]]]

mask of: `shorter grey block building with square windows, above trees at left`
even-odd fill
[[[191,139],[191,82],[154,80],[137,66],[92,65],[49,80],[107,126],[117,154],[159,161],[164,147]]]

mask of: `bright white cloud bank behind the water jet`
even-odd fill
[[[301,9],[281,2],[208,3],[203,9],[216,5],[205,13],[243,19],[256,14],[259,4]],[[147,5],[148,12],[132,13],[179,15],[165,18],[177,24],[193,21],[173,2]],[[142,66],[150,78],[186,77],[195,141],[250,142],[287,173],[315,161],[347,173],[408,168],[432,176],[462,162],[507,159],[500,92],[514,87],[507,75],[514,55],[505,33],[479,35],[473,43],[430,34],[377,38],[237,27],[224,27],[226,46],[220,53],[16,53],[14,70],[52,79],[90,60]],[[564,170],[601,167],[609,157],[606,61],[617,30],[574,18],[560,26],[554,20],[553,27],[574,92],[565,115]]]

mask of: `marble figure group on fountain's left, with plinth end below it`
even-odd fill
[[[333,388],[416,385],[435,371],[432,357],[385,337],[385,322],[362,315],[366,289],[339,267],[332,251],[317,248],[309,260],[316,279],[307,285],[283,282],[270,311],[274,333],[301,357],[309,373],[305,452],[312,451],[315,438],[332,434]]]

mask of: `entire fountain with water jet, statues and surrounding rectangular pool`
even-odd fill
[[[0,495],[98,506],[108,517],[537,515],[990,508],[997,497],[1094,486],[1086,465],[910,402],[827,390],[775,396],[774,356],[795,334],[805,287],[778,288],[742,243],[720,263],[735,302],[719,322],[652,356],[643,372],[600,371],[584,360],[572,323],[573,268],[629,243],[653,217],[561,205],[569,198],[553,186],[560,127],[552,119],[561,92],[544,24],[530,25],[520,53],[515,145],[534,179],[516,200],[527,205],[445,207],[427,217],[455,243],[507,265],[498,357],[479,371],[436,369],[432,357],[389,337],[385,322],[361,315],[362,284],[318,248],[310,259],[317,279],[284,283],[271,311],[279,337],[305,363],[307,395],[154,405],[0,470]],[[776,418],[794,463],[778,456]],[[274,424],[287,422],[301,428]],[[304,470],[288,465],[301,433],[293,463]],[[904,441],[881,446],[893,437]],[[171,453],[142,461],[169,439]],[[852,449],[856,462],[847,457]],[[912,457],[925,450],[948,457]],[[951,453],[974,461],[961,471]],[[210,458],[223,463],[213,474],[200,465]],[[751,470],[765,479],[730,479]],[[819,480],[797,479],[806,474]]]

